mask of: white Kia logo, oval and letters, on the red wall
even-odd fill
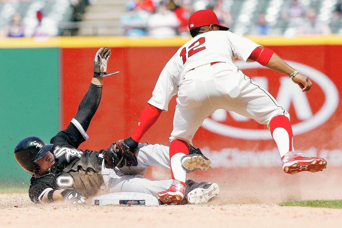
[[[292,61],[286,62],[299,72],[307,75],[315,83],[314,86],[319,86],[325,95],[323,106],[314,115],[312,115],[306,94],[302,92],[299,86],[293,83],[288,77],[279,78],[280,88],[276,99],[286,110],[288,110],[290,103],[293,104],[296,115],[301,121],[293,124],[292,130],[293,135],[299,135],[315,129],[329,119],[338,106],[339,94],[334,83],[324,73],[301,63]],[[235,65],[238,66],[240,70],[266,68],[257,62],[245,63],[243,61],[236,61]],[[255,78],[254,81],[263,86],[262,80],[258,81],[257,78]],[[267,85],[264,87],[267,88]],[[312,89],[315,89],[315,87]],[[317,99],[319,98],[317,97]],[[234,119],[236,121],[239,121],[239,118],[243,121],[248,119],[235,112],[229,111],[229,113],[235,117]],[[233,138],[252,140],[272,139],[272,135],[269,130],[242,129],[222,124],[219,121],[224,119],[224,115],[227,115],[227,112],[225,110],[218,109],[213,113],[211,118],[205,119],[201,126],[213,133]]]

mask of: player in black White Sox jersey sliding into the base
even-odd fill
[[[32,174],[29,197],[33,202],[65,200],[73,204],[88,204],[84,197],[99,193],[134,191],[156,196],[157,192],[171,186],[172,179],[152,181],[144,178],[149,166],[170,169],[169,146],[139,144],[127,155],[118,152],[117,143],[107,150],[77,149],[89,138],[86,132],[101,101],[103,77],[118,73],[107,75],[110,54],[108,48],[97,51],[93,78],[76,116],[64,131],[51,139],[51,144],[29,136],[15,147],[15,159]],[[192,155],[201,154],[196,147],[189,150]],[[220,192],[216,183],[187,180],[186,184],[186,199],[190,203],[207,202]]]

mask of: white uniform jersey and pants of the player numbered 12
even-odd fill
[[[277,115],[290,118],[271,94],[233,63],[235,58],[247,62],[258,46],[229,31],[209,31],[176,52],[160,73],[148,101],[167,111],[171,97],[177,94],[170,141],[181,139],[192,145],[203,120],[220,108],[268,127]],[[215,62],[219,63],[211,65]]]

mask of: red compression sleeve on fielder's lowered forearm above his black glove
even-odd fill
[[[162,111],[163,110],[147,103],[146,107],[141,113],[139,123],[131,136],[135,142],[139,143],[140,139],[147,132],[147,130],[150,129],[157,121]]]

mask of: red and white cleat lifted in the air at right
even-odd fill
[[[324,158],[304,157],[300,153],[293,151],[287,152],[281,160],[282,169],[285,173],[296,174],[302,171],[317,172],[327,167],[327,161]]]

